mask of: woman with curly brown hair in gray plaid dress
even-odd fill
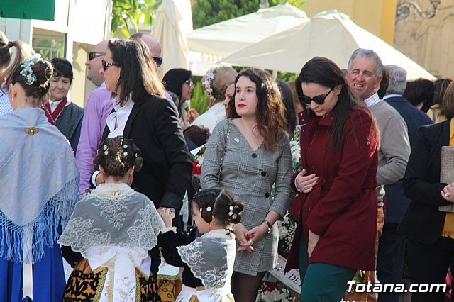
[[[238,252],[231,284],[237,301],[255,301],[265,272],[277,264],[275,222],[287,212],[292,177],[280,98],[267,72],[238,74],[228,119],[216,125],[204,154],[202,189],[227,188],[245,206],[235,227]]]

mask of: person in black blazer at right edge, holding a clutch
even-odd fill
[[[419,128],[406,166],[404,192],[411,203],[398,230],[409,240],[413,284],[445,284],[448,267],[454,264],[454,225],[445,224],[454,213],[438,210],[454,202],[454,184],[440,182],[441,147],[450,145],[454,135],[454,83],[446,90],[443,108],[448,120]],[[412,301],[443,301],[443,292],[412,293]]]

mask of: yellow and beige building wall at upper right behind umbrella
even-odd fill
[[[306,0],[307,16],[337,9],[428,72],[454,79],[454,0]]]

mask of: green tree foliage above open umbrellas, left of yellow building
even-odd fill
[[[270,6],[288,2],[298,9],[306,0],[270,0]],[[194,29],[254,13],[259,9],[260,0],[196,0],[192,6]]]

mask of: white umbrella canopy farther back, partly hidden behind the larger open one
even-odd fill
[[[192,62],[208,67],[215,65],[223,57],[258,43],[270,35],[308,21],[309,18],[304,11],[285,3],[197,28],[188,33],[186,38]]]

